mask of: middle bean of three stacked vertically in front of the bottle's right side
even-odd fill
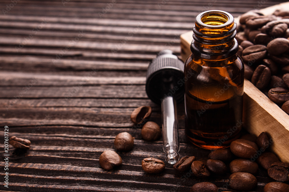
[[[249,159],[235,159],[231,161],[229,168],[231,173],[246,172],[253,175],[257,174],[259,169],[258,164]]]

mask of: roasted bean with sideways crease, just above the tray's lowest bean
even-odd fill
[[[282,104],[289,100],[289,89],[283,87],[272,88],[268,92],[271,101]]]

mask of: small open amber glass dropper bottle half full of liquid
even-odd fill
[[[206,11],[196,17],[193,32],[184,66],[186,135],[205,149],[226,148],[242,127],[244,64],[236,22],[227,12]]]

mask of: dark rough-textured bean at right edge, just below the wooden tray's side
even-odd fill
[[[277,161],[268,169],[268,175],[272,179],[280,182],[289,181],[289,164]]]

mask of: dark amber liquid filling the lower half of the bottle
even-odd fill
[[[236,96],[223,102],[206,102],[185,95],[189,110],[186,111],[188,138],[205,149],[221,149],[239,137],[242,127],[240,106],[242,97]]]

